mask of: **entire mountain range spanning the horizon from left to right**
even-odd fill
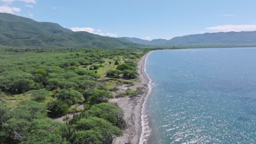
[[[191,34],[170,40],[112,38],[88,32],[73,32],[57,23],[37,22],[26,17],[0,13],[0,46],[115,48],[161,46],[255,46],[256,31]]]

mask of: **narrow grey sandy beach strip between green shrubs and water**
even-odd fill
[[[150,51],[151,52],[151,51]],[[123,130],[123,136],[116,137],[113,141],[114,144],[118,143],[139,143],[142,135],[142,109],[144,100],[149,93],[150,79],[145,72],[145,64],[148,52],[144,55],[138,62],[137,72],[139,74],[140,82],[135,82],[135,85],[130,87],[136,89],[141,87],[142,94],[138,97],[124,97],[124,98],[114,98],[110,99],[110,103],[116,103],[124,111],[124,119],[126,121],[126,129]]]

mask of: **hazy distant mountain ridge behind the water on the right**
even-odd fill
[[[138,38],[126,38],[132,43],[141,41]],[[133,39],[133,40],[131,40]],[[136,39],[136,41],[134,40]],[[214,45],[214,46],[238,46],[238,45],[256,45],[256,31],[253,32],[218,32],[191,34],[182,37],[174,37],[170,40],[153,39],[147,43],[138,43],[146,45]]]

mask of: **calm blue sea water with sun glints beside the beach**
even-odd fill
[[[256,48],[150,53],[146,143],[256,143]]]

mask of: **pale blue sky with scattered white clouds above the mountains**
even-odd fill
[[[256,31],[255,0],[0,0],[0,12],[109,37]]]

